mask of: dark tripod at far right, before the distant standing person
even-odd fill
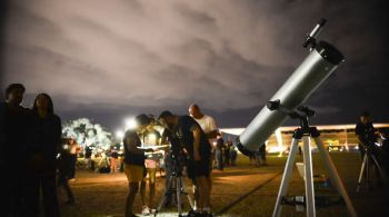
[[[376,166],[376,169],[378,169],[379,178],[382,178],[382,179],[386,178],[376,156],[373,155],[372,146],[375,146],[375,145],[371,144],[369,146],[371,146],[371,147],[370,148],[369,147],[360,147],[360,148],[365,148],[365,155],[363,155],[362,166],[360,168],[360,174],[359,174],[359,179],[358,179],[358,185],[357,185],[357,193],[359,193],[359,190],[360,190],[363,174],[366,176],[367,187],[369,190],[371,189],[371,174],[370,174],[371,164],[373,166]]]

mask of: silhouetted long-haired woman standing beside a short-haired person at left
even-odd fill
[[[61,119],[49,95],[39,93],[32,106],[28,150],[27,204],[29,216],[40,216],[40,190],[47,217],[59,217],[57,197],[57,154],[61,148]]]

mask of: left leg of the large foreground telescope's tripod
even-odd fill
[[[293,164],[296,160],[296,154],[299,147],[299,141],[300,139],[292,139],[292,142],[290,145],[290,152],[288,156],[288,160],[287,160],[287,165],[285,167],[283,170],[283,176],[282,176],[282,180],[281,180],[281,186],[280,189],[278,191],[278,196],[277,196],[277,201],[276,201],[276,207],[272,214],[272,217],[279,217],[281,215],[281,203],[282,203],[282,198],[286,196],[288,187],[289,187],[289,181],[293,171]]]

